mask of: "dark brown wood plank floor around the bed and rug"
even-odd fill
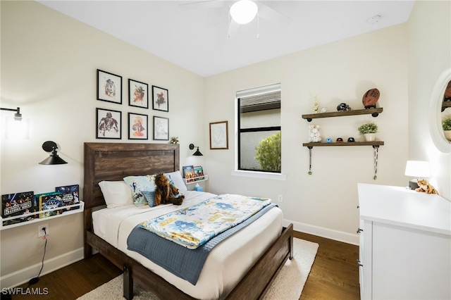
[[[301,232],[295,232],[295,237],[319,244],[301,300],[360,299],[359,269],[356,263],[358,246]],[[96,254],[44,275],[39,278],[39,282],[30,286],[46,295],[14,295],[12,299],[77,299],[121,273],[103,256]],[[27,285],[20,287],[25,291]],[[6,299],[4,294],[1,294],[1,299]]]

